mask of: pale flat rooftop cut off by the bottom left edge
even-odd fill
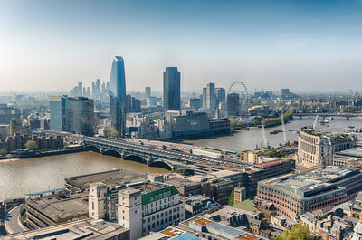
[[[108,239],[114,235],[128,232],[116,223],[91,221],[90,219],[68,222],[62,225],[48,226],[24,233],[5,235],[4,240],[13,239],[43,239],[43,240],[75,240],[75,239]]]

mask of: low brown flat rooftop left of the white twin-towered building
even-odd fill
[[[54,222],[71,217],[88,217],[88,192],[73,194],[65,198],[53,196],[36,200],[30,198],[26,202]]]

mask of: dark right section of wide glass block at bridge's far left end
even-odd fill
[[[87,136],[94,134],[93,100],[85,97],[65,98],[65,130]]]

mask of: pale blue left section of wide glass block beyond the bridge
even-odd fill
[[[51,130],[65,130],[65,98],[64,96],[51,96],[49,98],[51,109]]]

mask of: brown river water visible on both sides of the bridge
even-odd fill
[[[300,130],[303,126],[311,126],[313,117],[292,120],[285,125],[287,139],[298,140],[298,134],[291,129]],[[317,126],[317,130],[345,131],[348,126],[362,128],[362,119],[346,120],[335,118],[327,125]],[[279,146],[284,142],[283,134],[269,134],[272,130],[281,130],[281,126],[266,129],[266,138],[271,146]],[[262,142],[262,130],[241,130],[233,135],[212,136],[208,139],[186,140],[186,142],[218,149],[241,151],[255,149]],[[0,201],[5,198],[23,197],[29,192],[42,191],[64,187],[64,178],[111,170],[114,168],[127,169],[138,173],[167,172],[163,168],[151,168],[145,164],[125,161],[121,158],[101,155],[95,152],[81,152],[52,157],[10,159],[0,161]]]

